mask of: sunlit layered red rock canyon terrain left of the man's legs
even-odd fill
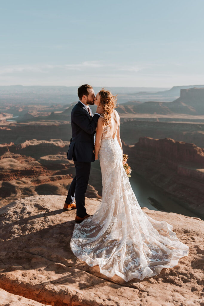
[[[61,140],[0,144],[0,207],[25,196],[67,195],[75,175],[74,162],[66,158],[68,147]],[[91,183],[96,176],[93,171]],[[101,198],[92,185],[86,196]]]

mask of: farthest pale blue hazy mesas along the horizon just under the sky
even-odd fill
[[[152,87],[107,87],[113,94],[117,94],[119,103],[129,100],[140,102],[161,101],[170,102],[177,99],[180,89],[204,87],[204,85],[174,86],[169,88]],[[70,105],[77,101],[77,86],[0,86],[1,103],[5,107],[13,104],[20,105]],[[94,87],[95,92],[101,87]]]

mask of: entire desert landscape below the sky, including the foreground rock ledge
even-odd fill
[[[147,215],[173,225],[189,256],[128,283],[77,259],[70,249],[75,211],[62,209],[75,175],[66,153],[77,87],[0,86],[0,306],[204,305],[204,85],[110,89],[118,94],[135,196]],[[101,196],[97,160],[89,213]]]

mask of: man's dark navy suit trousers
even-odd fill
[[[85,217],[87,210],[85,208],[85,192],[88,186],[88,180],[91,170],[91,162],[76,162],[74,161],[76,175],[69,187],[69,192],[65,203],[71,204],[75,198],[76,215],[78,217]]]

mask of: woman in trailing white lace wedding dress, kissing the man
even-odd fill
[[[117,274],[126,282],[143,280],[176,266],[188,255],[189,247],[178,240],[172,225],[152,219],[139,206],[123,167],[116,96],[102,89],[95,104],[103,111],[95,141],[102,200],[94,215],[75,225],[71,249],[89,266],[98,265],[108,277]]]

